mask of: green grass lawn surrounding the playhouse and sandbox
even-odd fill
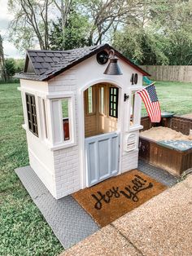
[[[62,246],[14,172],[28,165],[17,86],[0,84],[0,255],[56,255]],[[163,110],[192,113],[192,83],[157,82],[156,88]]]

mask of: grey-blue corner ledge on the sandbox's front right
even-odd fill
[[[182,152],[192,149],[192,141],[189,140],[160,140],[157,144]]]

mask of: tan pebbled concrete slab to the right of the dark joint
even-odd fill
[[[144,255],[192,255],[192,175],[114,226]]]

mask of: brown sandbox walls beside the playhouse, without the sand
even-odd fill
[[[189,135],[190,130],[192,130],[192,119],[170,117],[167,120],[162,120],[160,125],[179,131],[184,135]],[[149,117],[142,117],[142,126],[143,130],[151,129],[153,125]],[[166,147],[162,143],[142,136],[139,138],[139,157],[177,176],[192,168],[192,148],[180,150]]]

